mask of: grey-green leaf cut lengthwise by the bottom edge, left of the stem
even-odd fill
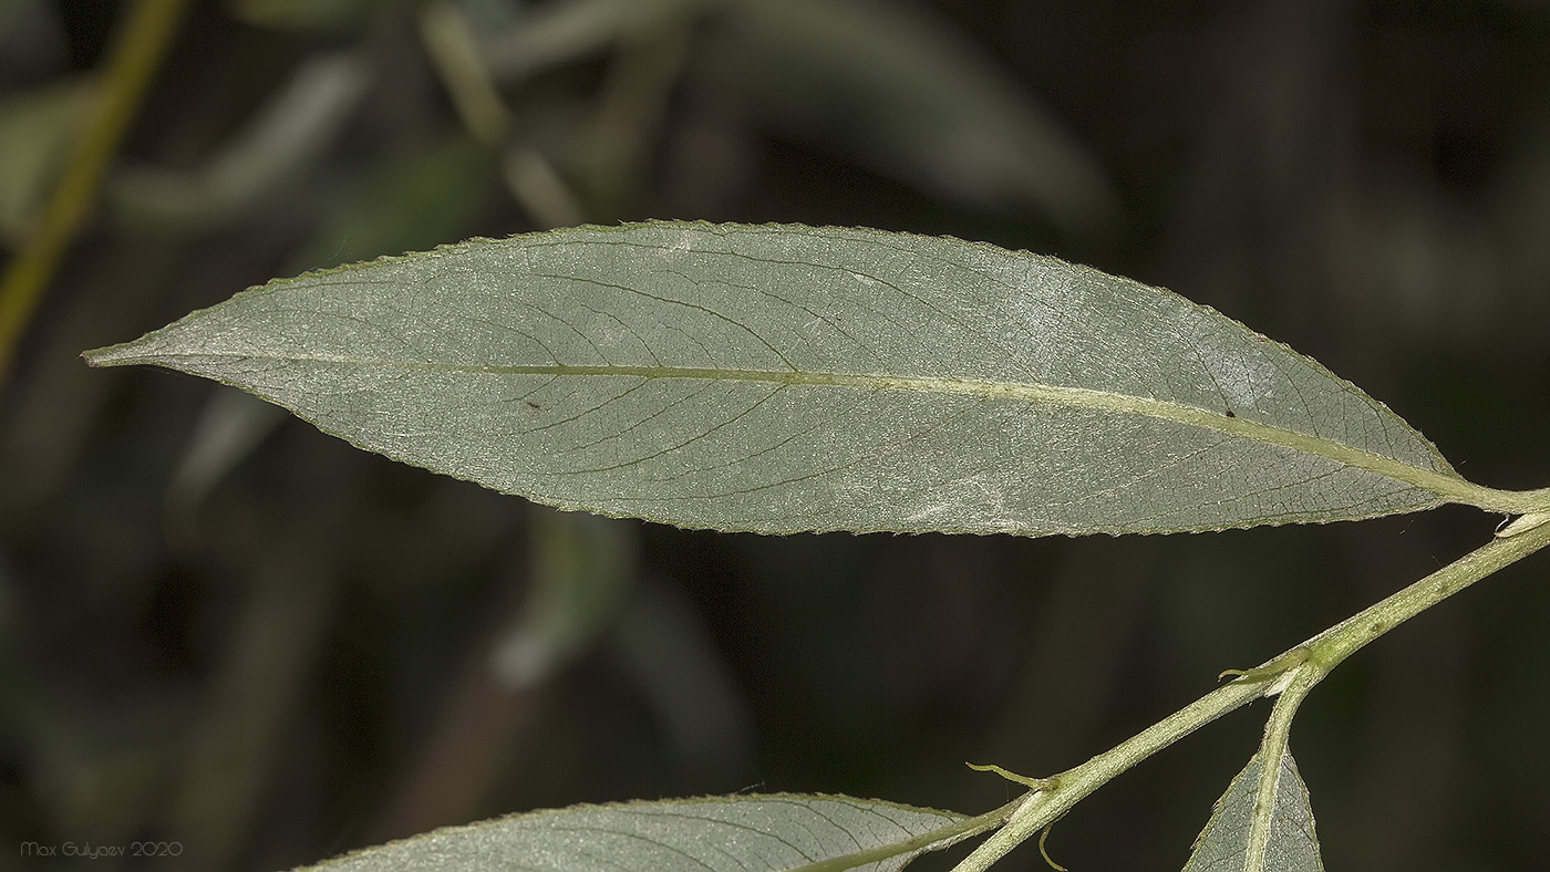
[[[891,872],[961,838],[967,821],[846,796],[577,805],[448,827],[304,872],[775,872],[820,861]]]

